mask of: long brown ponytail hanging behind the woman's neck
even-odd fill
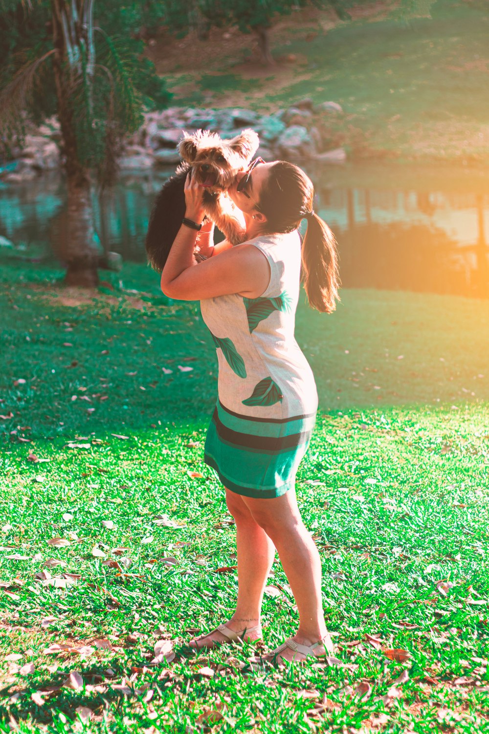
[[[307,230],[302,244],[301,282],[311,308],[331,313],[339,301],[338,252],[334,234],[315,211],[304,215]]]

